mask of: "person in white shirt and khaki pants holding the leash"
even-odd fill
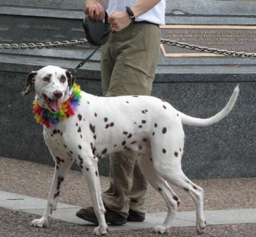
[[[150,95],[160,47],[159,25],[164,25],[165,0],[109,0],[108,42],[102,46],[100,68],[104,96]],[[84,12],[91,20],[104,20],[100,0],[87,0]],[[138,155],[122,151],[109,155],[110,186],[102,194],[106,222],[121,226],[145,219],[147,181]],[[97,224],[93,208],[77,211],[77,217]]]

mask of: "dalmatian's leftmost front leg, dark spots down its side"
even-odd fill
[[[52,156],[55,161],[56,158]],[[60,196],[60,188],[63,184],[63,181],[66,180],[67,173],[72,165],[72,160],[63,160],[61,162],[56,163],[54,175],[52,178],[51,190],[48,195],[46,208],[44,211],[44,215],[40,219],[35,219],[31,223],[31,226],[34,227],[47,227],[49,225],[48,218],[51,217],[52,211],[56,210],[56,206],[58,203],[58,199]]]

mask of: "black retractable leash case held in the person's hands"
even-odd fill
[[[94,46],[104,45],[108,41],[110,27],[108,23],[108,13],[105,11],[105,21],[92,21],[88,15],[85,15],[83,21],[86,40]]]

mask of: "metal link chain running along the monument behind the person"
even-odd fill
[[[63,41],[63,42],[45,42],[45,43],[4,43],[0,44],[0,49],[43,49],[43,48],[51,48],[51,47],[68,47],[68,46],[76,46],[76,45],[84,45],[88,41],[85,38],[82,38],[80,40],[70,40],[70,41]],[[183,43],[183,42],[177,42],[174,40],[167,40],[167,39],[161,39],[161,43],[165,43],[170,46],[177,46],[180,48],[190,49],[190,50],[196,50],[200,52],[207,52],[212,54],[218,54],[223,56],[232,56],[232,57],[246,57],[246,58],[252,58],[256,59],[255,53],[246,53],[246,52],[236,52],[236,51],[228,51],[225,49],[211,49],[208,47],[202,47],[198,45],[190,45],[189,43]]]

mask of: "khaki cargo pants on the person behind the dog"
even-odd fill
[[[159,27],[153,24],[130,24],[111,34],[102,47],[100,60],[103,95],[150,95],[159,45]],[[147,181],[136,153],[115,153],[109,159],[110,187],[102,194],[106,208],[123,217],[127,217],[129,209],[145,213]]]

